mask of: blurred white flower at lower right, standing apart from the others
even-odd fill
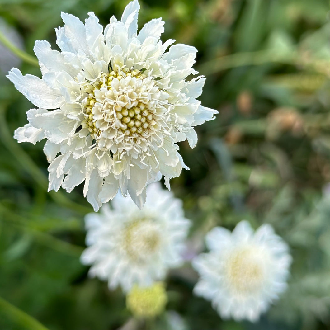
[[[269,224],[254,233],[244,220],[232,233],[222,227],[212,229],[206,245],[210,252],[192,262],[201,276],[194,293],[211,300],[223,318],[257,321],[287,286],[288,246]]]

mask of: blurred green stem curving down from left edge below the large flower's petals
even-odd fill
[[[1,114],[2,113],[2,114]],[[39,186],[48,191],[48,180],[45,174],[39,169],[39,167],[34,163],[31,157],[16,143],[9,133],[7,127],[6,113],[4,108],[0,108],[0,114],[2,120],[0,120],[0,137],[2,140],[3,145],[12,155],[17,159],[19,164],[22,164],[24,168],[29,172],[33,180],[39,184]],[[91,212],[89,207],[80,205],[68,199],[64,196],[60,191],[49,191],[49,195],[51,198],[58,204],[68,207],[76,212],[81,214],[86,214]]]

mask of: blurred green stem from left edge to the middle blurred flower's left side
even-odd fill
[[[37,241],[55,251],[66,253],[75,257],[79,257],[82,254],[83,248],[62,240],[59,240],[48,233],[41,232],[29,226],[27,219],[23,219],[21,216],[14,214],[12,211],[8,210],[6,207],[0,204],[0,212],[3,215],[4,221],[10,223],[19,229],[26,231],[33,235]]]

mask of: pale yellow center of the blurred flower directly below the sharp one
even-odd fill
[[[133,260],[145,261],[159,247],[159,226],[152,220],[136,220],[126,226],[123,241],[126,253]]]

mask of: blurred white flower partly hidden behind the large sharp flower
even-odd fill
[[[101,213],[85,217],[88,248],[81,262],[92,265],[89,275],[108,280],[111,289],[149,286],[183,262],[190,221],[184,218],[181,200],[158,182],[150,183],[147,193],[143,210],[118,194],[113,209],[104,205]]]

